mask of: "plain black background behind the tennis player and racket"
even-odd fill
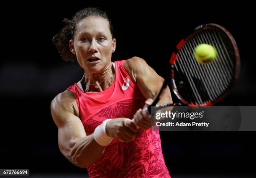
[[[51,43],[61,20],[85,7],[107,11],[117,48],[113,61],[139,56],[164,75],[181,38],[203,23],[218,23],[233,34],[241,55],[237,84],[218,105],[255,105],[255,22],[253,5],[181,3],[138,5],[13,3],[2,6],[0,66],[0,168],[56,175],[84,173],[61,155],[50,103],[81,79],[77,63],[61,61]],[[173,96],[174,97],[174,96]],[[175,100],[175,97],[174,97]],[[255,118],[255,116],[252,116]],[[255,132],[161,132],[171,175],[253,175]]]

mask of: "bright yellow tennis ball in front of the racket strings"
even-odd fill
[[[217,51],[209,44],[200,44],[195,47],[194,56],[200,64],[208,64],[217,58]]]

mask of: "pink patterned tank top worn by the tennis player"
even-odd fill
[[[86,135],[94,132],[104,120],[118,117],[133,118],[146,100],[140,89],[123,68],[123,61],[115,61],[115,81],[103,92],[84,93],[77,84],[68,88],[74,93]],[[106,97],[107,96],[107,97]],[[159,132],[139,130],[131,142],[113,139],[102,158],[87,167],[90,178],[169,178],[164,163]]]

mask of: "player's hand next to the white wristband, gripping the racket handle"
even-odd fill
[[[106,133],[122,142],[130,142],[137,135],[137,127],[130,119],[116,118],[107,122]]]

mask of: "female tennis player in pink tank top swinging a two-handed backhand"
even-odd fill
[[[101,10],[85,8],[64,23],[53,43],[84,75],[51,102],[61,153],[91,178],[169,178],[159,132],[143,111],[161,88],[161,76],[139,57],[111,61],[116,39]],[[170,102],[167,87],[159,104]]]

